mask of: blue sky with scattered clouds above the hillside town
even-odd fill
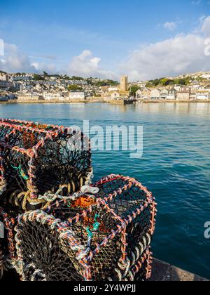
[[[207,22],[209,27],[209,15],[209,0],[0,0],[0,38],[6,44],[0,67],[104,77],[128,72],[133,79],[147,79],[153,71],[144,65],[146,48],[179,34],[208,37],[210,32],[203,32],[202,26]],[[152,53],[149,58],[153,59]],[[206,62],[200,64],[201,69],[194,64],[192,70],[208,70]],[[189,65],[182,69],[191,70]],[[163,71],[155,74],[162,76]],[[178,72],[166,70],[166,75]]]

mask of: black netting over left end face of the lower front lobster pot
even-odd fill
[[[47,224],[22,221],[18,240],[23,262],[22,279],[27,281],[80,281],[76,259],[64,253],[58,235]]]

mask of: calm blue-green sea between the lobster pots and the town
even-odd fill
[[[96,179],[110,173],[133,176],[158,201],[154,256],[210,278],[210,104],[0,105],[0,117],[48,124],[144,126],[144,155],[93,152]]]

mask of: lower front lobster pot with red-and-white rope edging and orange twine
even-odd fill
[[[56,280],[151,277],[156,215],[151,192],[133,178],[113,175],[94,187],[99,188],[97,195],[79,193],[45,212],[31,211],[19,218],[15,240],[18,261],[23,263],[22,280],[52,280],[50,271],[59,273]],[[71,268],[64,267],[65,273],[63,261]]]

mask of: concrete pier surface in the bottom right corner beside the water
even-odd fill
[[[204,277],[199,277],[186,270],[176,268],[169,263],[165,263],[158,259],[153,261],[152,282],[209,282]]]

